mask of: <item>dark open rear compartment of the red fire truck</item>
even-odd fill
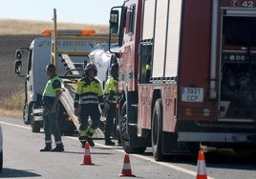
[[[256,8],[222,10],[220,117],[256,116]]]

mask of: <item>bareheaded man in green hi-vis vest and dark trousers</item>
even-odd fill
[[[55,74],[55,66],[50,64],[46,67],[46,74],[49,80],[43,92],[42,100],[44,105],[43,122],[45,131],[45,148],[40,151],[63,151],[61,134],[58,128],[58,102],[62,93],[62,81]],[[56,147],[52,149],[52,133]]]

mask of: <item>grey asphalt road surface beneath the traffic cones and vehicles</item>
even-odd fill
[[[96,140],[90,148],[94,166],[81,166],[84,151],[76,136],[63,136],[64,152],[39,152],[44,147],[44,133],[32,133],[21,119],[0,116],[4,135],[4,169],[0,178],[119,178],[124,152],[120,147],[105,147]],[[143,155],[130,154],[136,178],[191,179],[197,175],[197,156],[166,158],[155,162],[150,149]],[[205,153],[208,179],[256,179],[256,162],[246,151]],[[128,177],[129,178],[129,177]]]

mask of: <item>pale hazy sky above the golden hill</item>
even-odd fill
[[[108,24],[109,11],[123,0],[1,0],[0,18],[51,21],[53,8],[58,22]]]

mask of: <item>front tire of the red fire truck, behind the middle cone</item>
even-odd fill
[[[137,137],[136,134],[132,136],[128,133],[128,121],[127,121],[127,112],[126,112],[126,103],[122,106],[120,121],[119,121],[119,133],[120,133],[120,140],[122,144],[122,148],[126,153],[143,153],[146,147],[137,148],[130,146],[130,137]]]

